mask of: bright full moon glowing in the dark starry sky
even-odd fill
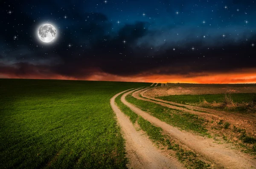
[[[51,24],[44,24],[38,29],[38,37],[44,43],[52,42],[56,37],[56,29]]]

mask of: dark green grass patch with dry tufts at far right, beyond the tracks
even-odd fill
[[[241,113],[255,112],[256,108],[255,93],[236,93],[228,95],[170,95],[157,98],[183,104],[198,105],[199,103],[203,103],[203,105],[201,105],[202,107]],[[219,104],[214,106],[216,103]]]

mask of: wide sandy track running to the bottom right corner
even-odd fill
[[[183,144],[198,152],[208,160],[215,161],[217,168],[224,166],[230,169],[250,169],[256,168],[256,160],[252,160],[248,155],[245,155],[237,150],[228,148],[228,144],[218,144],[214,143],[214,140],[194,135],[186,131],[180,131],[179,129],[170,126],[169,124],[143,112],[131,103],[125,100],[125,96],[134,92],[125,93],[121,97],[122,103],[128,106],[132,111],[142,116],[149,122],[153,123],[155,126],[161,127],[164,132],[166,132],[171,137],[175,137],[180,140]],[[140,92],[140,90],[139,90]]]

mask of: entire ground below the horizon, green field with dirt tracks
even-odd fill
[[[1,168],[256,168],[255,84],[0,80]]]

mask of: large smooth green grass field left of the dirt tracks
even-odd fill
[[[110,99],[149,85],[0,79],[1,168],[126,168]]]

